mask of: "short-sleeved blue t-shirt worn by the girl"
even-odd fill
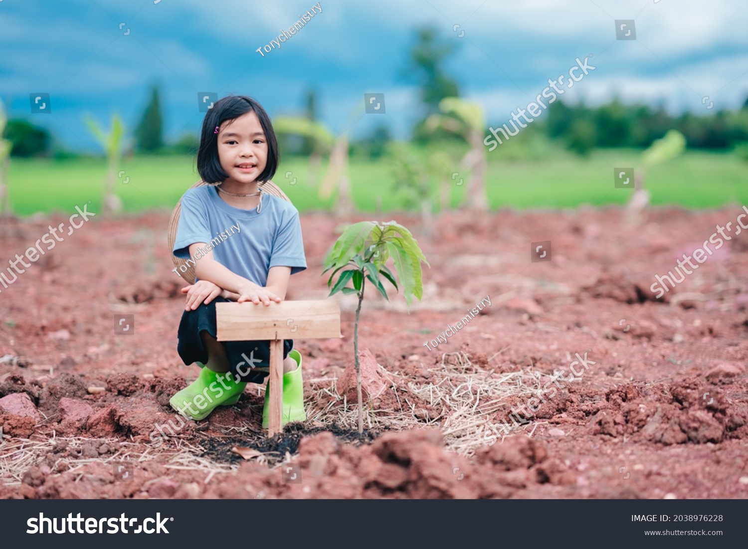
[[[182,197],[182,211],[174,241],[174,255],[193,266],[189,246],[205,242],[218,263],[239,276],[265,286],[271,267],[286,266],[291,274],[307,268],[298,210],[288,200],[263,193],[263,206],[241,209],[218,196],[218,189],[203,185]]]

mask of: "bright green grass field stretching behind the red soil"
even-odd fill
[[[574,208],[580,204],[622,204],[630,191],[613,187],[613,168],[636,166],[640,152],[598,150],[589,159],[571,155],[544,160],[494,162],[488,153],[488,199],[497,208]],[[117,194],[126,212],[162,209],[171,212],[183,192],[199,179],[191,156],[136,156],[124,159],[125,171]],[[325,173],[326,161],[319,174]],[[8,174],[10,201],[18,215],[35,212],[70,212],[76,204],[91,200],[89,209],[100,208],[106,164],[103,159],[12,159]],[[286,172],[292,172],[286,179]],[[454,171],[459,171],[455,169]],[[447,174],[447,177],[449,174]],[[467,180],[466,174],[461,174]],[[293,178],[295,183],[291,184]],[[299,211],[328,209],[331,200],[317,197],[319,177],[313,177],[305,158],[287,158],[273,178]],[[350,165],[353,199],[359,210],[375,211],[381,197],[383,211],[403,209],[386,160],[353,159]],[[459,178],[457,178],[459,180]],[[655,205],[711,208],[726,203],[748,203],[748,163],[730,153],[689,151],[684,156],[653,168],[646,180]],[[452,204],[457,205],[464,186],[453,185]]]

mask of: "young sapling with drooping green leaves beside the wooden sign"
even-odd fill
[[[376,221],[361,221],[352,224],[335,242],[325,259],[325,274],[333,269],[328,279],[330,295],[337,292],[358,295],[356,322],[353,331],[353,349],[356,369],[356,394],[358,396],[358,432],[364,432],[364,399],[361,395],[361,367],[358,362],[358,319],[361,304],[364,302],[364,290],[367,280],[384,296],[387,301],[387,290],[384,289],[380,275],[399,290],[392,271],[387,268],[387,260],[393,260],[402,295],[408,309],[413,296],[419,300],[423,297],[423,277],[420,263],[426,261],[410,231],[395,221],[383,225]],[[333,284],[335,275],[337,282]],[[348,283],[352,284],[347,286]]]

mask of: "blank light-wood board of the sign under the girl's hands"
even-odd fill
[[[216,303],[218,341],[326,339],[340,334],[340,303],[319,301],[263,304]]]

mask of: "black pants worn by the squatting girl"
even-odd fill
[[[177,352],[185,364],[208,362],[208,351],[203,346],[203,331],[215,339],[215,304],[231,302],[230,299],[217,297],[209,304],[200,304],[195,310],[182,313],[180,329],[177,333],[179,343]],[[256,305],[264,307],[264,305]],[[236,381],[262,383],[270,368],[270,341],[221,341],[226,349],[226,357]],[[283,358],[293,349],[293,340],[283,340]]]

